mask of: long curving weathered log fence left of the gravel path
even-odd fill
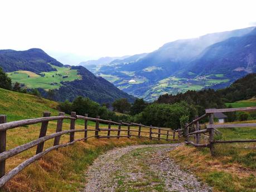
[[[97,139],[103,139],[103,138],[119,139],[120,137],[130,138],[132,136],[136,136],[139,138],[146,137],[148,139],[158,139],[158,140],[167,140],[167,141],[173,141],[178,139],[178,134],[175,136],[175,132],[176,132],[175,130],[162,129],[161,127],[146,126],[146,125],[137,124],[133,122],[127,123],[122,121],[115,122],[111,120],[103,120],[103,119],[100,119],[99,116],[97,116],[96,118],[91,118],[91,117],[88,117],[87,114],[85,114],[85,116],[76,115],[76,112],[71,112],[71,116],[65,116],[64,112],[59,112],[59,116],[50,116],[50,115],[51,115],[50,112],[44,112],[43,117],[40,117],[40,118],[12,121],[12,122],[7,122],[6,115],[0,115],[0,188],[8,180],[12,179],[13,176],[17,175],[18,173],[20,173],[20,171],[25,169],[26,166],[40,159],[40,157],[44,156],[48,152],[55,149],[59,149],[60,147],[73,145],[75,144],[75,142],[78,142],[78,141],[87,141],[88,139],[93,137]],[[75,122],[78,119],[84,120],[84,129],[75,129]],[[70,120],[69,130],[62,130],[62,124],[64,120]],[[49,121],[57,121],[56,132],[54,134],[46,135]],[[95,129],[88,129],[88,121],[95,122]],[[41,130],[40,130],[38,139],[6,151],[7,130],[15,129],[16,127],[21,127],[26,125],[38,124],[38,123],[41,123]],[[107,125],[108,128],[107,129],[100,128],[100,123]],[[118,129],[112,129],[111,128],[112,125],[117,125]],[[127,127],[127,129],[124,129],[124,128],[122,129],[122,127]],[[132,130],[131,127],[138,127],[138,130]],[[146,130],[145,129],[142,130],[142,127],[146,128]],[[153,132],[152,130],[157,130],[157,132]],[[88,136],[89,131],[94,132],[94,135]],[[107,135],[100,135],[100,132],[105,132],[105,131],[107,131]],[[80,139],[75,139],[75,132],[84,132],[84,137]],[[120,135],[121,132],[127,132],[127,134]],[[69,142],[66,142],[65,144],[60,144],[61,136],[65,134],[70,134]],[[157,135],[157,136],[154,136],[154,135]],[[165,138],[161,137],[161,135],[165,136]],[[54,145],[44,150],[45,141],[50,139],[54,139]],[[18,165],[16,168],[6,173],[7,159],[15,155],[18,155],[23,151],[31,149],[34,146],[37,146],[36,154],[34,156],[23,161],[23,163]]]

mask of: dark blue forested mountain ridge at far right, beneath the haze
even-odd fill
[[[256,28],[245,36],[232,37],[206,48],[190,63],[189,71],[199,75],[221,73],[241,77],[256,72]]]

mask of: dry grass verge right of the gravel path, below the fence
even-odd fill
[[[256,127],[219,129],[219,131],[223,134],[218,138],[219,140],[256,138]],[[255,147],[255,143],[215,144],[215,156],[212,157],[207,148],[181,146],[171,151],[170,155],[183,169],[192,170],[216,192],[255,192]]]

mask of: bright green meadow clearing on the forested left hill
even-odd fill
[[[81,79],[77,70],[70,67],[57,67],[57,71],[42,72],[40,75],[31,71],[15,71],[7,73],[13,82],[24,83],[28,88],[44,88],[45,90],[59,88],[61,81],[74,81]]]

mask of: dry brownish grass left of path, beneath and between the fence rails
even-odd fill
[[[69,120],[65,120],[63,130],[70,127]],[[101,128],[106,126],[100,125]],[[94,126],[89,126],[94,129]],[[83,123],[76,124],[76,129],[83,129]],[[117,129],[117,126],[113,126]],[[122,127],[126,129],[126,127]],[[138,127],[132,127],[132,130],[138,130]],[[37,139],[40,131],[40,124],[27,127],[19,127],[17,129],[7,131],[7,150],[26,142]],[[56,131],[56,122],[50,122],[47,135]],[[149,131],[143,128],[142,131]],[[133,133],[137,135],[137,132]],[[94,131],[88,132],[88,136],[93,136]],[[100,135],[107,135],[107,131],[100,132]],[[117,131],[113,131],[111,135],[117,135]],[[121,132],[121,135],[127,135],[127,132]],[[146,136],[148,134],[141,134]],[[84,132],[76,132],[75,139],[83,138]],[[165,137],[166,136],[161,136]],[[61,143],[69,141],[69,134],[62,135]],[[166,143],[166,141],[139,139],[132,137],[131,139],[89,139],[87,142],[78,142],[73,146],[65,147],[50,152],[28,166],[15,178],[9,181],[3,191],[76,191],[80,189],[85,181],[83,177],[84,170],[93,162],[93,160],[102,152],[112,149],[115,146],[124,146],[132,144],[152,144]],[[52,146],[53,139],[45,142],[45,149]],[[6,161],[7,171],[15,168],[18,164],[35,154],[36,147],[24,151]]]

